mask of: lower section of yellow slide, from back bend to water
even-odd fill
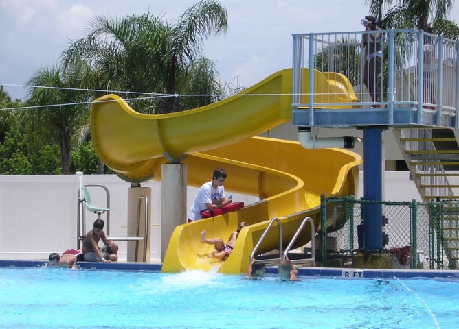
[[[221,166],[229,173],[225,182],[227,193],[257,195],[261,201],[236,212],[177,226],[166,252],[163,271],[208,270],[217,264],[221,273],[245,273],[250,254],[273,217],[279,217],[282,222],[285,248],[305,217],[311,217],[316,228],[319,226],[321,194],[326,197],[355,195],[361,157],[343,149],[308,150],[298,142],[253,137],[234,145],[191,154],[185,163],[193,185],[197,186],[203,175]],[[243,228],[225,263],[201,257],[212,251],[212,246],[200,243],[201,230],[206,230],[210,237],[227,239],[241,221],[249,223],[249,227]],[[310,241],[309,226],[304,230],[294,247]],[[278,249],[278,243],[275,225],[258,251]]]

